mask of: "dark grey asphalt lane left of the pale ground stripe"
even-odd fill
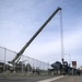
[[[45,79],[55,78],[55,75],[35,75],[35,77],[1,77],[0,82],[37,82]]]

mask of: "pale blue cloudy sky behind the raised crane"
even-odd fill
[[[58,8],[62,9],[65,59],[82,65],[82,0],[0,0],[0,46],[19,52]],[[60,12],[24,51],[42,61],[61,61]]]

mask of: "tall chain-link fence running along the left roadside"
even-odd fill
[[[16,56],[15,51],[0,47],[0,73],[9,71],[10,73],[47,73],[50,65],[31,58],[28,56],[21,56],[17,63],[11,65],[11,61]]]

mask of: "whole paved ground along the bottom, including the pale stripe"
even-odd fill
[[[63,78],[55,75],[36,77],[0,77],[0,82],[82,82],[82,75],[66,75]],[[56,80],[58,79],[58,80]]]

